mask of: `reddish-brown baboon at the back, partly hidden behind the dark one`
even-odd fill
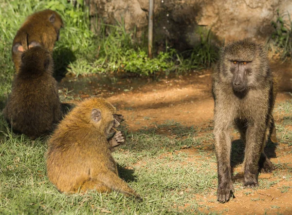
[[[12,59],[16,72],[19,70],[21,54],[27,49],[41,45],[53,53],[61,27],[64,27],[62,18],[53,10],[47,9],[29,16],[18,30],[12,44]]]

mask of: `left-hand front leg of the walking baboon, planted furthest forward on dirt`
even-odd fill
[[[223,116],[223,115],[222,115]],[[214,121],[214,136],[215,136],[215,149],[217,156],[218,168],[218,191],[217,199],[220,202],[226,202],[234,193],[234,187],[231,178],[231,138],[229,135],[229,122],[222,120]],[[225,125],[222,125],[222,122]]]

